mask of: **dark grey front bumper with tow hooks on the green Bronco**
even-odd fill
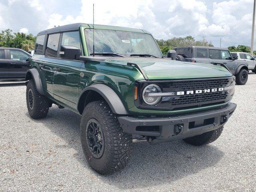
[[[223,126],[236,109],[228,103],[219,109],[164,118],[142,118],[120,116],[118,120],[124,132],[154,139],[150,144],[188,138],[215,130]]]

